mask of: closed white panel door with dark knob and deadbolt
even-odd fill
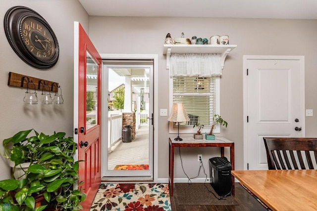
[[[305,136],[304,57],[299,58],[247,59],[248,169],[268,169],[263,137]]]

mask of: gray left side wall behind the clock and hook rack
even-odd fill
[[[64,131],[73,136],[73,69],[74,21],[89,31],[89,16],[78,0],[0,0],[0,140],[17,131],[34,128],[38,132],[53,134]],[[40,13],[51,25],[59,42],[60,55],[49,70],[38,70],[23,62],[12,50],[3,30],[5,12],[12,6],[27,6]],[[14,72],[58,82],[62,88],[63,105],[24,105],[26,89],[8,86],[8,73]],[[41,91],[38,91],[38,97]],[[34,135],[34,133],[33,133]],[[0,144],[2,152],[2,141]],[[0,158],[0,179],[10,178],[10,168]]]

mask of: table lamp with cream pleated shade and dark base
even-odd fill
[[[182,138],[179,137],[179,123],[189,121],[189,118],[185,112],[184,104],[183,103],[173,103],[172,112],[170,113],[167,120],[169,122],[177,123],[177,125],[178,125],[177,137],[174,138],[174,140],[175,141],[183,140]]]

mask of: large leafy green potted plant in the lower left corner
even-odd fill
[[[3,140],[3,157],[16,167],[30,162],[24,169],[25,178],[0,181],[0,210],[42,211],[45,208],[78,211],[80,202],[86,199],[82,190],[74,190],[79,180],[79,162],[74,161],[76,143],[64,132],[53,135],[38,133],[27,138],[34,130],[24,130]],[[79,183],[81,184],[81,183]],[[46,203],[35,206],[36,198],[42,195]]]

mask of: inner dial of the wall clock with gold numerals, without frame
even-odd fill
[[[50,30],[39,20],[28,17],[21,22],[20,34],[29,52],[37,59],[50,61],[56,47]]]

